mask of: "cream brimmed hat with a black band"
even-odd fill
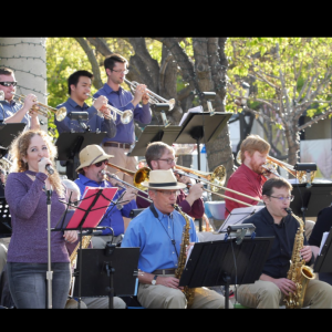
[[[148,175],[148,180],[141,183],[142,186],[149,189],[184,189],[187,186],[185,184],[178,183],[172,169],[155,169],[151,170]]]

